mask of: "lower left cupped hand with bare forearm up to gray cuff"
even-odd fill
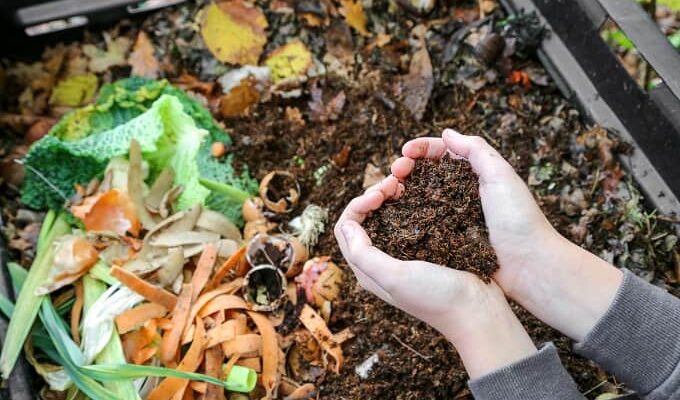
[[[335,237],[359,284],[440,331],[472,378],[535,352],[496,283],[424,261],[400,261],[371,245],[360,224],[403,189],[394,176],[386,178],[353,199],[336,223]]]

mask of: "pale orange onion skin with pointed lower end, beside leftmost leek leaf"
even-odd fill
[[[36,289],[41,296],[62,288],[83,276],[99,259],[99,253],[85,238],[64,236],[55,243],[56,251],[47,280]]]

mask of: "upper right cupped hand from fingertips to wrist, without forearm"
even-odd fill
[[[406,143],[404,157],[392,164],[392,174],[403,181],[415,160],[439,159],[445,154],[467,159],[479,176],[479,195],[489,240],[501,268],[494,280],[510,296],[530,282],[532,268],[547,262],[550,248],[561,236],[546,220],[528,187],[505,159],[484,139],[446,129],[442,138],[418,138]]]

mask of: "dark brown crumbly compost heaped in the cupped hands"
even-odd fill
[[[417,160],[401,198],[365,221],[373,245],[401,260],[423,260],[473,272],[485,282],[498,269],[470,163]]]

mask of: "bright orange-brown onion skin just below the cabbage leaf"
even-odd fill
[[[71,212],[80,218],[88,231],[111,231],[119,235],[130,232],[139,235],[141,224],[135,206],[127,193],[111,189],[72,206]]]

